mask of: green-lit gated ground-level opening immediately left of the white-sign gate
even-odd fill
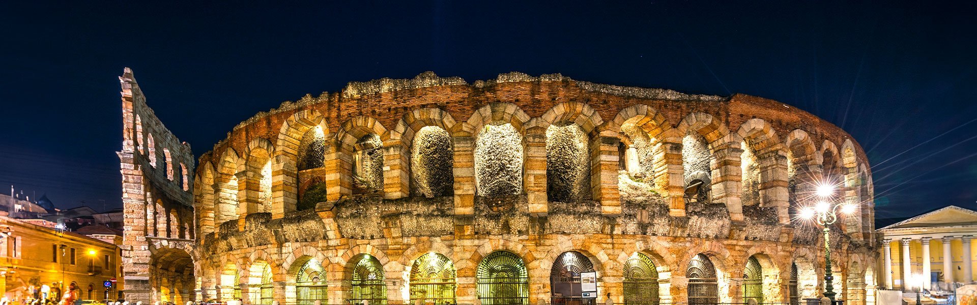
[[[530,276],[526,264],[509,251],[491,252],[478,269],[478,297],[482,304],[530,304]]]

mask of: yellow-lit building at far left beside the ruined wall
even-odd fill
[[[120,253],[117,244],[0,216],[0,287],[14,304],[57,301],[69,291],[77,299],[116,299]]]

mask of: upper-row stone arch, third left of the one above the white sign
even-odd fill
[[[336,132],[336,143],[341,156],[339,174],[342,188],[332,192],[330,187],[329,194],[350,195],[369,190],[388,191],[387,175],[383,171],[383,167],[387,165],[384,160],[384,151],[386,151],[384,147],[396,144],[390,141],[390,132],[379,121],[364,115],[346,120]],[[390,170],[399,171],[401,168],[403,167],[391,167]],[[362,175],[361,178],[354,177],[358,174],[358,170],[361,171],[359,173]],[[358,184],[358,179],[361,179],[362,183]],[[398,189],[393,189],[395,187]],[[400,187],[400,185],[392,186],[389,190],[401,192],[403,189]]]

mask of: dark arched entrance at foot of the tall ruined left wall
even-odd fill
[[[183,304],[193,300],[193,289],[196,283],[193,278],[193,259],[190,253],[180,248],[160,248],[152,251],[149,257],[149,285],[151,302]]]

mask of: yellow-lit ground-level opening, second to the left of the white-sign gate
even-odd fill
[[[410,301],[454,304],[456,273],[454,264],[444,254],[430,252],[410,266]]]

